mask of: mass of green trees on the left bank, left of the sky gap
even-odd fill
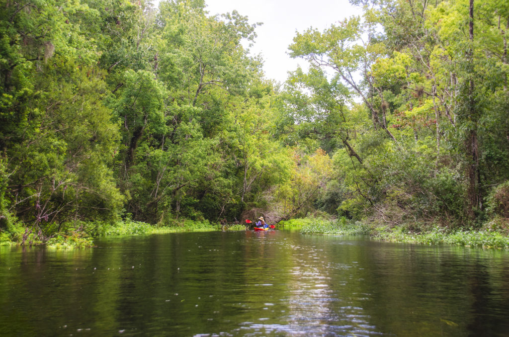
[[[247,17],[210,17],[203,1],[4,7],[4,241],[58,245],[78,224],[94,237],[150,233],[148,223],[210,229],[247,202],[267,205],[262,195],[290,175],[271,136],[274,89],[242,46],[256,36]]]

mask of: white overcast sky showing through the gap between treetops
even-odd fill
[[[159,1],[154,3],[157,6]],[[250,23],[263,22],[256,29],[258,37],[250,50],[262,55],[266,76],[279,82],[284,82],[287,72],[295,70],[299,63],[306,67],[305,61],[293,60],[287,54],[296,31],[303,32],[311,26],[323,31],[337,21],[361,13],[348,0],[205,0],[205,3],[210,15],[237,10]]]

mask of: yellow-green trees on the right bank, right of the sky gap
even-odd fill
[[[363,9],[363,20],[308,29],[290,46],[310,70],[289,77],[279,135],[309,153],[328,120],[336,139],[335,193],[322,189],[315,206],[415,229],[478,228],[491,212],[490,226],[503,231],[496,201],[484,199],[509,164],[507,6],[476,2],[473,38],[464,2]],[[354,95],[361,104],[345,105]]]

